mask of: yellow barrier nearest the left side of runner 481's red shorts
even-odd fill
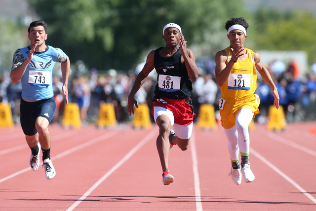
[[[132,126],[134,128],[145,128],[149,129],[152,126],[150,121],[150,113],[147,104],[139,104],[138,108],[134,108],[134,119]]]

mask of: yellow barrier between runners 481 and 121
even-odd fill
[[[201,104],[198,111],[197,127],[200,129],[216,129],[214,106]]]

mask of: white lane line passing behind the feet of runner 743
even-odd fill
[[[97,142],[99,142],[99,141],[104,141],[105,139],[109,139],[109,138],[111,138],[112,136],[114,136],[114,135],[116,135],[116,134],[118,134],[118,133],[119,133],[119,131],[115,131],[115,132],[110,132],[110,133],[104,134],[104,135],[102,135],[102,136],[96,137],[96,138],[94,138],[94,139],[92,139],[92,140],[90,140],[90,141],[87,141],[87,142],[85,142],[85,143],[82,143],[82,144],[80,144],[80,145],[78,145],[78,146],[75,146],[75,147],[73,147],[73,148],[71,148],[71,149],[69,149],[69,150],[66,150],[66,151],[64,151],[64,152],[62,152],[62,153],[60,153],[60,154],[58,154],[58,155],[52,157],[52,161],[53,161],[53,160],[57,160],[57,159],[59,159],[59,158],[61,158],[61,157],[64,157],[64,156],[66,156],[66,155],[68,155],[68,154],[70,154],[70,153],[73,153],[73,152],[75,152],[75,151],[77,151],[77,150],[79,150],[79,149],[82,149],[82,148],[85,148],[85,147],[87,147],[87,146],[90,146],[90,145],[92,145],[92,144],[94,144],[94,143],[97,143]],[[1,182],[4,182],[5,180],[8,180],[8,179],[10,179],[10,178],[12,178],[12,177],[14,177],[14,176],[21,175],[21,174],[23,174],[23,173],[25,173],[25,172],[27,172],[27,171],[30,171],[30,170],[31,170],[31,167],[28,167],[28,168],[25,168],[25,169],[23,169],[23,170],[21,170],[21,171],[18,171],[18,172],[16,172],[16,173],[14,173],[14,174],[12,174],[12,175],[3,177],[3,178],[0,179],[0,183],[1,183]]]

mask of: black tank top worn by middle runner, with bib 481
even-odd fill
[[[180,48],[164,58],[159,55],[162,47],[155,50],[154,65],[157,71],[155,98],[188,99],[192,93],[192,81],[187,68],[181,63]]]

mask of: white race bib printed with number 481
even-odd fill
[[[158,89],[166,92],[175,92],[180,90],[181,77],[170,75],[159,75]]]

